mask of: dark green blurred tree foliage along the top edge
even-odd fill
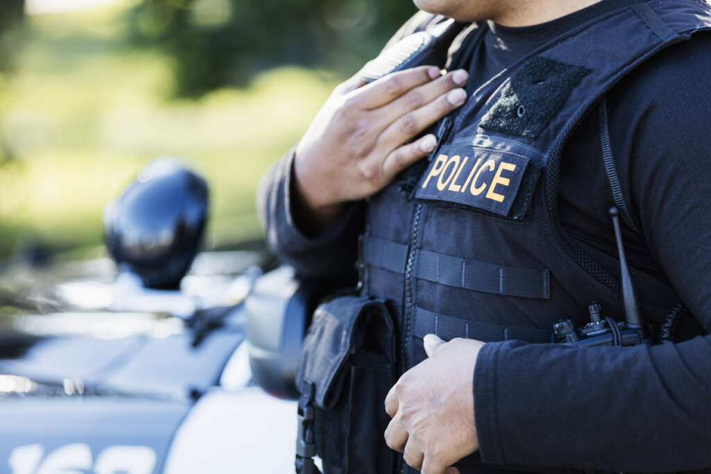
[[[414,13],[410,0],[141,0],[130,26],[173,58],[174,92],[195,97],[274,65],[353,72]]]

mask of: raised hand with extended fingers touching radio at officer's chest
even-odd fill
[[[343,203],[385,188],[395,175],[432,152],[428,134],[410,141],[466,100],[469,75],[440,75],[433,66],[394,72],[364,85],[355,75],[336,87],[296,146],[295,190],[301,215],[326,225]]]

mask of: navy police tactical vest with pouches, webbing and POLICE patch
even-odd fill
[[[600,104],[612,194],[634,227],[609,152],[604,95],[663,48],[710,29],[711,7],[700,0],[616,6],[481,85],[440,122],[432,155],[368,200],[361,296],[392,306],[400,373],[424,360],[428,333],[546,343],[560,319],[589,322],[592,301],[621,320],[619,277],[560,226],[562,148]],[[486,28],[475,23],[462,31],[449,63],[482,41]],[[604,205],[602,196],[590,198]],[[680,301],[675,289],[652,274],[631,273],[641,314],[662,321]],[[398,472],[415,471],[401,460]]]

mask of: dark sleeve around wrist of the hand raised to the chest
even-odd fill
[[[353,283],[358,235],[363,230],[363,203],[349,204],[321,234],[307,236],[294,220],[293,162],[294,149],[272,166],[257,191],[257,212],[267,244],[301,276]]]

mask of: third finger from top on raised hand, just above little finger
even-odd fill
[[[380,134],[378,141],[389,149],[395,149],[464,104],[465,101],[466,92],[464,89],[451,90],[424,107],[408,112],[397,119]]]

